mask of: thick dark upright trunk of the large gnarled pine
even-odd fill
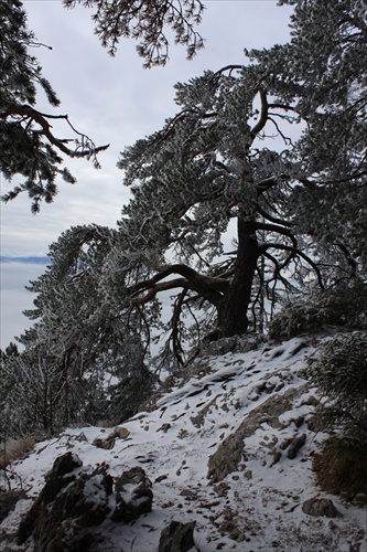
[[[247,311],[258,257],[255,222],[239,217],[235,275],[218,307],[218,329],[222,337],[246,333],[248,329]]]

